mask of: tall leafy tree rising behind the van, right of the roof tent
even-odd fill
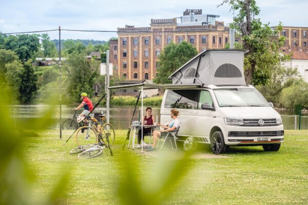
[[[229,4],[230,10],[238,12],[230,27],[242,35],[243,49],[249,50],[244,59],[246,83],[265,85],[271,77],[271,66],[286,58],[279,52],[286,39],[278,37],[281,23],[275,29],[262,25],[260,18],[255,18],[260,13],[255,0],[224,0],[219,6],[223,4]]]

